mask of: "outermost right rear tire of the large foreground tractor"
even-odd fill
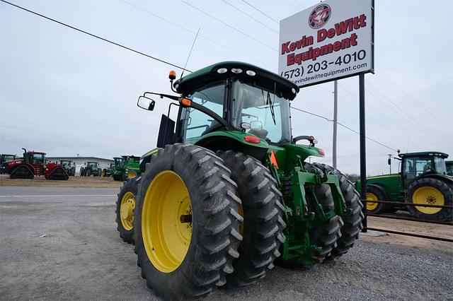
[[[326,164],[314,163],[314,165],[321,168],[321,170],[335,172],[338,176],[338,182],[340,182],[340,190],[345,199],[346,208],[352,210],[352,215],[341,218],[343,220],[341,237],[337,241],[337,247],[333,248],[331,255],[328,256],[328,259],[335,259],[348,253],[349,249],[354,246],[355,240],[359,238],[359,232],[362,230],[362,220],[364,218],[362,213],[363,205],[360,201],[360,194],[355,190],[354,184],[342,172]]]

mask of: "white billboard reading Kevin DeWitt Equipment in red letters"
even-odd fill
[[[278,72],[299,87],[374,73],[374,0],[327,0],[281,20]]]

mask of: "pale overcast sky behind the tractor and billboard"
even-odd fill
[[[311,0],[11,0],[187,69],[236,60],[277,72],[279,20]],[[389,172],[388,154],[453,156],[453,1],[375,1],[375,74],[365,75],[367,174]],[[256,9],[258,8],[258,10]],[[265,14],[263,14],[265,13]],[[0,2],[0,153],[112,158],[156,146],[161,114],[137,107],[144,91],[171,93],[181,70]],[[187,71],[185,72],[187,74]],[[293,136],[314,135],[332,164],[333,82],[302,88]],[[174,113],[174,112],[173,112]],[[358,77],[338,81],[338,169],[360,172]],[[392,172],[398,169],[394,161]]]

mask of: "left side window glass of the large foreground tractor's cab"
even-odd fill
[[[224,82],[216,83],[196,90],[188,95],[187,98],[203,107],[207,107],[222,117],[224,88]],[[183,133],[185,134],[185,137],[183,137],[184,141],[208,134],[210,131],[219,129],[221,126],[209,115],[195,110],[192,107],[185,107],[182,109],[181,119],[183,120]]]

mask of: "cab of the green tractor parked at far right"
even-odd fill
[[[447,175],[446,153],[420,152],[401,153],[401,181],[408,187],[415,179],[424,175]]]

